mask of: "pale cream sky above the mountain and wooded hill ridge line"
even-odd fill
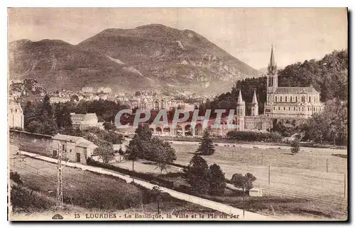
[[[347,48],[344,8],[11,8],[8,39],[75,45],[151,23],[195,31],[255,69],[267,66],[271,45],[279,67]]]

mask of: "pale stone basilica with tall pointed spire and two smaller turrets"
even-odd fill
[[[258,99],[254,90],[251,103],[251,116],[245,115],[245,102],[239,91],[236,104],[236,121],[239,130],[271,129],[277,121],[302,121],[312,114],[322,112],[320,92],[310,87],[278,87],[278,67],[271,47],[270,63],[267,72],[267,94],[264,114],[258,114]]]

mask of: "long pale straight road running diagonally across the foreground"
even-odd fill
[[[26,152],[26,151],[20,151],[20,153],[22,155],[24,155],[24,156],[29,156],[31,158],[37,158],[37,159],[40,159],[42,161],[47,161],[47,162],[50,162],[50,163],[57,163],[58,162],[58,160],[55,159],[55,158],[48,158],[48,157],[45,157],[45,156],[40,156],[40,155],[35,154],[35,153],[29,153],[29,152]],[[111,175],[111,176],[114,176],[114,177],[117,177],[117,178],[121,178],[123,180],[126,180],[126,183],[131,183],[133,181],[133,178],[131,178],[131,176],[129,176],[129,175],[120,174],[120,173],[114,172],[112,170],[107,170],[107,169],[104,169],[104,168],[94,167],[94,166],[90,166],[90,165],[84,165],[84,164],[80,164],[80,163],[63,162],[63,165],[64,164],[69,166],[69,167],[73,167],[73,168],[80,168],[82,170],[89,170],[89,171],[92,171],[94,173],[101,173],[101,174],[106,174],[106,175]],[[154,186],[157,186],[157,185],[153,185],[153,184],[148,183],[148,182],[143,181],[143,180],[137,180],[136,178],[134,178],[134,182],[138,183],[139,185],[142,185],[143,187],[148,188],[148,189],[152,189]],[[170,194],[172,197],[178,198],[179,200],[185,200],[187,202],[192,202],[192,203],[195,203],[197,205],[201,205],[203,207],[208,207],[208,208],[211,208],[213,210],[218,210],[219,212],[224,212],[224,213],[226,213],[228,215],[239,215],[239,218],[243,219],[242,218],[243,210],[241,210],[239,208],[231,207],[229,205],[224,205],[222,203],[214,202],[214,201],[211,201],[211,200],[206,200],[206,199],[203,199],[201,197],[196,197],[196,196],[193,196],[193,195],[187,195],[185,193],[178,192],[178,191],[175,191],[175,190],[171,190],[169,188],[160,187],[160,190]],[[245,211],[244,215],[245,215],[244,216],[244,220],[266,220],[266,219],[271,219],[271,217],[266,217],[264,215],[259,215],[259,214],[256,214],[256,213],[253,213],[253,212],[247,212],[247,211]]]

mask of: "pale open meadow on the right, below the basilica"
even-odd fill
[[[177,161],[187,165],[197,146],[172,145],[177,153]],[[256,176],[255,186],[263,188],[271,195],[297,195],[312,197],[346,205],[344,199],[344,173],[347,160],[332,156],[332,150],[300,151],[295,156],[285,149],[260,149],[216,146],[216,153],[203,156],[207,163],[217,163],[226,178],[234,173],[252,173]],[[338,153],[346,151],[339,150]],[[327,173],[328,160],[328,173]],[[268,167],[270,165],[270,185]],[[347,187],[346,187],[347,191]],[[347,194],[346,194],[347,195]],[[329,202],[328,202],[329,201]]]

